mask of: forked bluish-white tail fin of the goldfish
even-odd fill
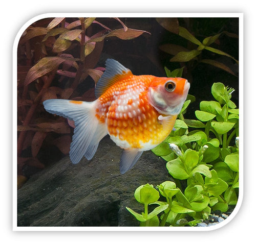
[[[106,125],[99,124],[95,117],[95,102],[51,99],[43,103],[47,112],[74,120],[75,129],[70,145],[70,159],[74,164],[82,156],[92,159],[99,141],[108,133]]]

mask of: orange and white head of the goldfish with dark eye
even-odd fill
[[[189,87],[189,82],[183,78],[155,77],[148,89],[148,100],[159,113],[177,115],[186,101]]]

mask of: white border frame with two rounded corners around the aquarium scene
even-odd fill
[[[239,198],[233,212],[223,222],[208,227],[18,227],[17,226],[17,46],[24,31],[35,21],[49,17],[238,17],[239,18]],[[237,215],[243,200],[243,13],[46,13],[28,20],[13,43],[13,231],[211,231],[228,224]]]

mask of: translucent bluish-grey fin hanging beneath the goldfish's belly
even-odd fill
[[[123,150],[120,160],[120,173],[124,174],[127,170],[131,169],[137,163],[142,153],[143,151],[138,149]]]

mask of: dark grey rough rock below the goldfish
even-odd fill
[[[143,210],[135,189],[171,178],[165,161],[151,151],[121,175],[120,155],[106,136],[92,160],[74,165],[65,157],[31,177],[17,193],[17,226],[138,226],[125,209]]]

